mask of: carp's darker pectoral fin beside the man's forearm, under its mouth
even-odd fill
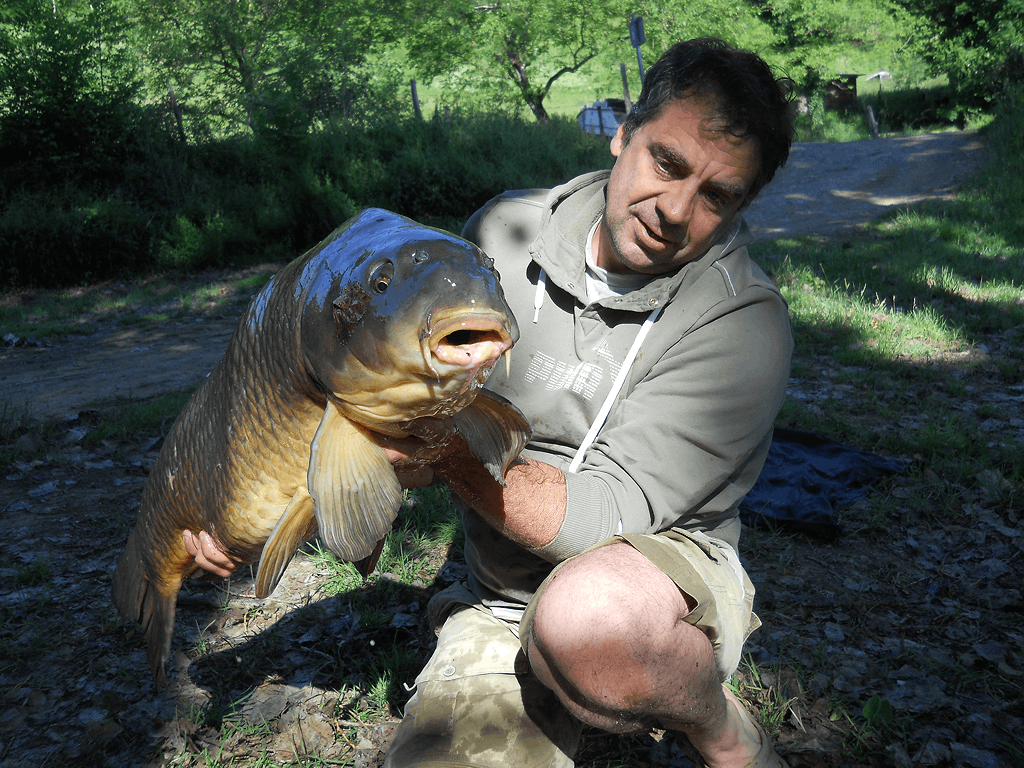
[[[498,482],[529,441],[526,417],[499,394],[481,389],[453,420],[469,450]]]

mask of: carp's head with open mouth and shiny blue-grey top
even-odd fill
[[[370,429],[401,434],[412,419],[469,404],[518,338],[493,260],[450,232],[371,209],[314,260],[306,367]]]

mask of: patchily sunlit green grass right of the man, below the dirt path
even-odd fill
[[[1011,387],[1024,372],[1024,224],[1014,213],[1024,206],[1024,153],[1014,127],[1020,95],[1004,109],[986,130],[989,164],[956,200],[898,212],[831,242],[754,248],[790,303],[794,376],[827,360],[835,384],[863,390],[816,408],[791,399],[783,422],[923,457],[940,475],[984,466],[1012,483],[1024,479],[1019,443],[992,444],[981,431],[998,408],[962,408],[966,375]],[[880,437],[876,427],[910,400],[925,402],[928,423]],[[879,424],[862,418],[865,406]]]

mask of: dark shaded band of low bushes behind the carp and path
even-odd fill
[[[461,114],[148,145],[116,183],[0,190],[0,286],[287,260],[371,206],[458,230],[504,189],[611,159],[566,120]]]

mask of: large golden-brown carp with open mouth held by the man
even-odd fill
[[[275,274],[171,427],[114,573],[158,683],[196,567],[183,529],[258,559],[260,597],[317,531],[344,560],[370,557],[402,500],[382,435],[436,445],[454,430],[499,480],[518,456],[526,421],[480,388],[517,337],[489,258],[387,211]]]

